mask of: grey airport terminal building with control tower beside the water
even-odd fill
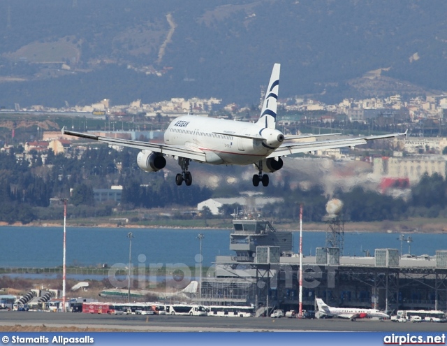
[[[270,222],[233,220],[230,250],[217,256],[214,277],[203,280],[200,300],[207,305],[254,305],[256,315],[275,308],[298,310],[299,254],[293,233]],[[435,257],[401,257],[397,249],[376,249],[374,257],[345,257],[339,247],[318,247],[302,259],[302,304],[315,298],[331,306],[447,311],[447,250]]]

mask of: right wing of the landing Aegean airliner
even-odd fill
[[[274,150],[267,158],[279,157],[290,154],[299,154],[300,152],[310,152],[314,150],[332,149],[336,147],[353,147],[355,145],[366,144],[368,140],[381,139],[381,138],[395,138],[397,136],[406,135],[406,131],[403,134],[386,134],[379,136],[363,136],[354,138],[343,139],[329,139],[329,140],[317,140],[315,142],[305,143],[284,143]]]

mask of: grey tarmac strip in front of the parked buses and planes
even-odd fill
[[[442,323],[397,323],[390,320],[271,319],[166,315],[93,315],[71,312],[0,312],[1,326],[75,326],[122,331],[445,331]]]

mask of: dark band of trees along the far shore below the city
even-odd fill
[[[226,184],[214,188],[198,184],[177,187],[173,180],[165,178],[163,171],[152,174],[141,171],[132,159],[134,151],[119,152],[107,145],[89,147],[82,154],[74,149],[71,158],[54,155],[51,150],[44,155],[33,151],[31,160],[27,161],[22,159],[22,153],[21,146],[0,152],[0,221],[8,224],[60,220],[62,198],[69,198],[70,218],[106,217],[112,215],[113,210],[196,210],[197,203],[222,196],[223,192],[225,196],[237,196],[242,190],[254,189],[248,182],[238,185],[238,190]],[[110,185],[123,186],[119,206],[110,201],[94,201],[93,189]],[[318,185],[309,189],[299,185],[291,187],[291,181],[286,179],[280,185],[265,188],[265,193],[283,197],[284,202],[259,210],[264,217],[297,222],[301,203],[305,208],[305,222],[321,222],[325,215],[328,196]],[[345,192],[337,190],[335,196],[344,202],[343,217],[351,222],[447,217],[447,180],[437,174],[424,175],[411,187],[411,196],[406,201],[361,186]],[[50,204],[50,199],[57,203]],[[228,218],[238,207],[225,206],[221,217]],[[200,216],[190,214],[189,217]],[[212,218],[212,215],[205,212],[202,217]]]

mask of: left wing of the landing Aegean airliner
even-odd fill
[[[151,150],[153,152],[160,152],[161,154],[185,157],[186,159],[192,159],[196,161],[205,162],[205,152],[198,149],[197,147],[189,147],[186,145],[169,145],[162,143],[150,143],[142,142],[140,140],[122,139],[122,138],[112,138],[105,136],[96,136],[92,134],[82,134],[81,132],[68,131],[62,128],[62,134],[67,134],[70,136],[87,138],[91,140],[98,140],[98,142],[108,143],[111,145],[121,145],[123,147],[134,147],[140,150]]]

